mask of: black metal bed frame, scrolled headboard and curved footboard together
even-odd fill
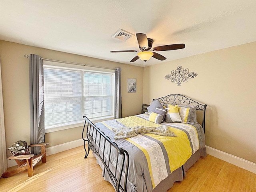
[[[200,104],[195,100],[180,94],[170,94],[158,98],[158,100],[165,104],[196,105],[196,110],[203,111],[202,127],[205,131],[206,104]],[[126,192],[130,162],[128,152],[118,147],[115,142],[110,140],[110,138],[97,128],[86,116],[83,116],[83,118],[85,119],[84,128],[82,130],[82,139],[84,140],[85,150],[84,158],[88,157],[91,149],[104,165],[105,171],[107,171],[116,192]],[[88,152],[86,150],[86,142],[88,142]],[[106,146],[110,147],[109,150],[106,150]],[[115,165],[111,164],[111,156],[113,153],[117,154]]]

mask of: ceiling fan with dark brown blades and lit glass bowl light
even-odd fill
[[[136,33],[136,37],[137,37],[139,48],[140,48],[141,52],[138,52],[137,50],[123,50],[123,51],[110,51],[110,52],[111,53],[138,52],[138,54],[130,62],[134,62],[138,58],[140,58],[142,61],[146,62],[151,57],[154,57],[161,61],[166,60],[166,57],[156,53],[155,51],[169,51],[169,50],[185,48],[185,44],[162,45],[162,46],[157,46],[157,47],[152,48],[154,40],[147,38],[146,34]]]

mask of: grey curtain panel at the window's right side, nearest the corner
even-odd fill
[[[121,68],[115,68],[115,119],[122,118]]]

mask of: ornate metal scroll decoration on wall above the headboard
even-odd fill
[[[171,74],[165,76],[166,79],[171,80],[172,83],[176,83],[177,86],[181,86],[182,83],[188,82],[188,79],[196,77],[195,72],[188,72],[188,69],[182,68],[182,66],[177,67],[174,71],[171,71]]]

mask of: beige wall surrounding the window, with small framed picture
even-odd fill
[[[24,54],[29,55],[30,53],[53,60],[106,66],[110,68],[121,67],[123,116],[140,113],[143,99],[142,67],[0,40],[6,146],[12,145],[17,140],[25,140],[30,143],[29,59],[24,57]],[[127,93],[127,78],[137,79],[136,93]],[[72,128],[47,133],[46,142],[50,143],[49,146],[55,146],[78,140],[81,136],[82,127]]]

